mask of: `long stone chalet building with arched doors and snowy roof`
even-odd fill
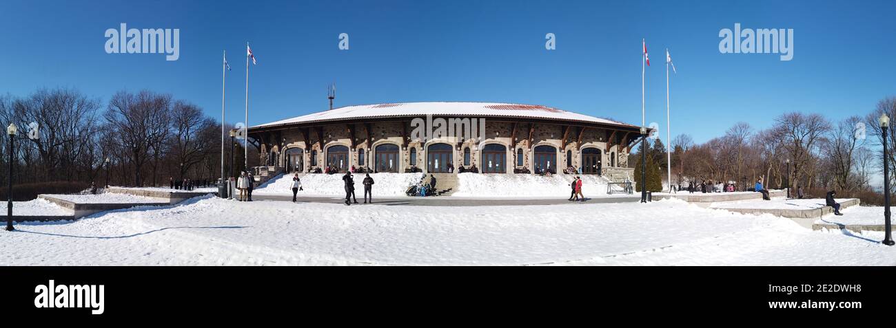
[[[432,119],[484,120],[481,138],[415,138]],[[420,129],[433,129],[425,126]],[[271,171],[313,172],[351,166],[372,172],[448,172],[475,165],[481,173],[549,170],[631,175],[627,158],[640,127],[543,105],[426,102],[350,105],[250,127]],[[466,137],[466,136],[461,136]]]

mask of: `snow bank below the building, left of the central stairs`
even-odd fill
[[[354,174],[355,193],[364,193],[364,174]],[[370,173],[374,178],[374,192],[377,197],[406,196],[408,186],[420,181],[423,173]],[[254,195],[289,195],[292,196],[293,175],[280,175],[254,189]],[[306,174],[299,175],[302,181],[301,196],[345,196],[342,174]],[[360,196],[358,194],[358,196]]]

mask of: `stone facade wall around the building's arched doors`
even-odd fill
[[[403,127],[402,127],[403,125]],[[364,123],[356,123],[355,124],[355,140],[356,146],[350,147],[351,139],[349,138],[349,128],[348,125],[342,124],[332,124],[323,127],[323,148],[321,147],[321,142],[318,142],[318,133],[315,128],[308,129],[308,141],[310,145],[306,145],[304,135],[299,129],[288,129],[288,130],[280,130],[278,131],[279,135],[277,137],[280,138],[279,142],[272,135],[269,136],[268,143],[263,144],[263,152],[262,152],[262,163],[266,163],[267,156],[271,156],[271,151],[273,151],[273,156],[271,158],[275,158],[277,165],[285,166],[288,158],[286,156],[280,156],[283,151],[288,150],[289,148],[298,147],[303,150],[303,171],[307,172],[309,169],[321,167],[326,164],[326,155],[329,147],[340,145],[349,147],[349,164],[355,166],[366,166],[370,168],[375,168],[375,154],[376,147],[383,144],[394,144],[399,147],[399,172],[405,172],[412,165],[416,165],[418,168],[426,171],[427,169],[427,159],[426,159],[426,147],[433,145],[435,143],[446,143],[452,146],[452,156],[453,156],[453,164],[455,167],[459,167],[460,165],[465,165],[463,163],[464,159],[464,150],[470,149],[470,165],[476,164],[477,167],[482,169],[482,153],[481,148],[485,147],[489,144],[499,144],[506,148],[506,156],[505,156],[505,172],[513,172],[514,169],[527,168],[530,172],[533,172],[533,151],[534,147],[547,145],[551,147],[555,147],[557,149],[556,154],[556,171],[563,172],[564,168],[567,164],[567,152],[572,152],[572,157],[570,158],[570,162],[572,162],[573,166],[580,167],[582,165],[582,156],[581,151],[584,148],[594,147],[598,148],[601,151],[601,165],[604,167],[610,166],[611,156],[616,156],[616,166],[617,167],[626,167],[627,166],[627,152],[623,151],[624,145],[614,145],[607,149],[609,133],[607,130],[589,128],[582,132],[582,143],[579,144],[579,130],[578,128],[571,128],[567,135],[566,139],[566,147],[562,147],[563,145],[563,133],[564,128],[561,125],[555,124],[535,124],[534,130],[532,131],[531,140],[529,124],[528,123],[518,123],[516,127],[516,147],[512,147],[513,140],[511,136],[513,135],[513,123],[512,122],[486,122],[485,127],[485,135],[481,136],[481,139],[465,139],[458,140],[456,138],[443,138],[438,140],[428,140],[424,141],[422,139],[410,139],[411,131],[413,127],[410,122],[374,122],[370,123],[371,130],[369,132],[370,140],[367,140],[368,132],[366,130],[366,124]],[[403,144],[403,140],[401,138],[403,133],[408,133],[408,145],[407,147],[401,147]],[[285,139],[285,143],[284,140]],[[460,145],[459,145],[460,144]],[[360,151],[363,149],[364,151],[364,163],[360,162]],[[417,156],[416,161],[411,162],[410,151],[411,149],[416,150]],[[517,149],[521,150],[522,153],[522,164],[518,165],[517,160]],[[313,153],[316,152],[316,161],[312,160]]]

